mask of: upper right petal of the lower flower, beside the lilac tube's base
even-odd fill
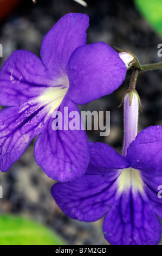
[[[133,168],[161,176],[162,126],[150,126],[139,132],[127,149],[127,159]]]

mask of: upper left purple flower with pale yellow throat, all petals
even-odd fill
[[[0,169],[7,171],[31,140],[35,160],[46,174],[59,181],[86,172],[89,162],[85,131],[53,131],[51,114],[64,106],[79,111],[85,104],[117,89],[126,67],[104,42],[86,45],[89,18],[85,14],[63,16],[44,37],[41,59],[15,51],[0,71]]]

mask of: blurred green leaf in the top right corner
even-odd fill
[[[162,0],[134,0],[140,13],[162,36]]]

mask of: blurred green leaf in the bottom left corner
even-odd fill
[[[0,245],[66,245],[53,231],[23,217],[0,216]]]

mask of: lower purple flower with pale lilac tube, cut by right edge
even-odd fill
[[[133,95],[130,111],[125,111],[124,155],[107,144],[90,143],[87,172],[51,190],[71,218],[92,222],[105,216],[103,233],[112,245],[156,245],[161,237],[157,215],[162,218],[162,126],[150,126],[134,138],[136,102]],[[127,121],[130,113],[134,127]]]

